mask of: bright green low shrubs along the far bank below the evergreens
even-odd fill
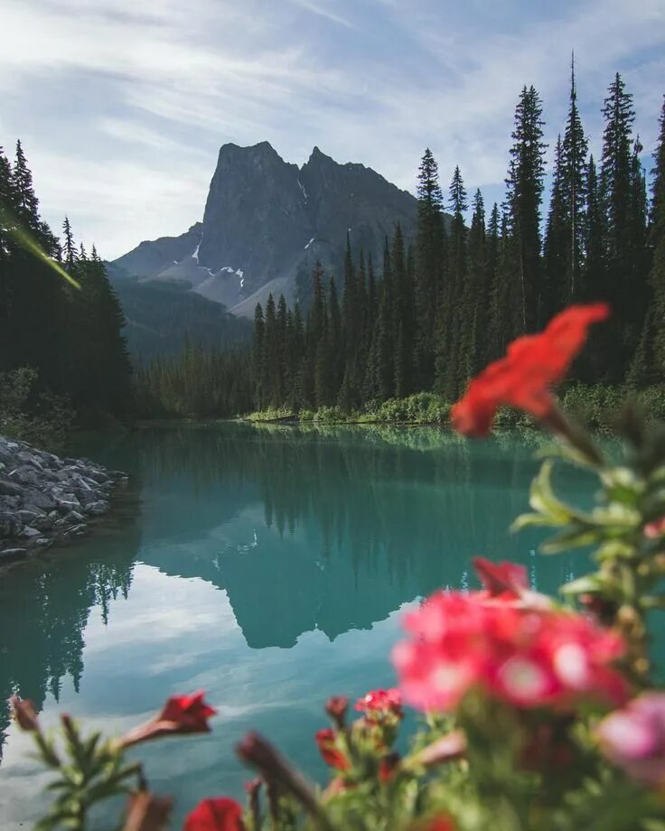
[[[596,430],[612,428],[616,416],[629,400],[635,401],[650,421],[665,421],[665,385],[631,390],[628,387],[569,384],[561,391],[561,397],[567,412]],[[286,407],[268,407],[245,418],[254,423],[447,425],[450,407],[450,403],[436,393],[419,392],[407,398],[389,398],[381,404],[348,413],[338,406],[304,409],[297,413]],[[510,409],[501,410],[495,424],[498,428],[533,425],[529,416]]]

